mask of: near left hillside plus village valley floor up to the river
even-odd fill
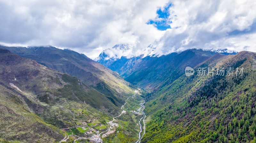
[[[139,92],[130,92],[134,88],[129,89],[132,95],[119,95],[120,99],[126,99],[122,101],[123,106],[117,107],[111,98],[84,84],[77,77],[47,68],[8,50],[0,49],[0,54],[0,138],[33,142],[29,136],[31,132],[36,132],[33,133],[36,142],[77,142],[81,139],[100,141],[97,135],[103,132],[107,136],[114,133],[117,137],[131,134],[136,139],[135,129],[139,128],[136,127],[137,117],[129,113],[128,108],[124,112],[124,105],[134,108],[133,105],[139,105],[142,100]],[[118,111],[123,111],[120,116],[117,116]],[[118,133],[112,130],[112,117],[117,118],[115,128]],[[15,121],[17,118],[19,122]],[[5,132],[7,128],[9,132]],[[38,131],[38,128],[46,131]]]

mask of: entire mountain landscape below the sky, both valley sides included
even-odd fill
[[[103,143],[134,143],[142,129],[141,143],[256,142],[256,53],[160,55],[150,45],[144,55],[127,54],[133,48],[116,45],[96,62],[53,46],[0,46],[0,142],[60,142],[83,135],[79,126],[112,120],[118,127]]]

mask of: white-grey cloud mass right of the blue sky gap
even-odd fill
[[[256,52],[256,1],[172,0],[170,24],[159,42],[160,53],[176,48],[230,48]],[[176,28],[177,27],[177,28]],[[254,27],[254,29],[253,29]],[[250,31],[251,30],[251,31]]]

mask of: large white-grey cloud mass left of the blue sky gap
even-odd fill
[[[166,0],[0,0],[0,33],[4,33],[0,42],[51,44],[85,54],[120,43],[144,46],[160,38],[162,32],[146,22],[156,17],[158,7],[166,3]]]

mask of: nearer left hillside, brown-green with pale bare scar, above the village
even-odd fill
[[[121,111],[78,78],[36,61],[0,49],[0,65],[0,138],[60,141],[65,137],[62,128],[92,119],[111,119],[107,113]]]

